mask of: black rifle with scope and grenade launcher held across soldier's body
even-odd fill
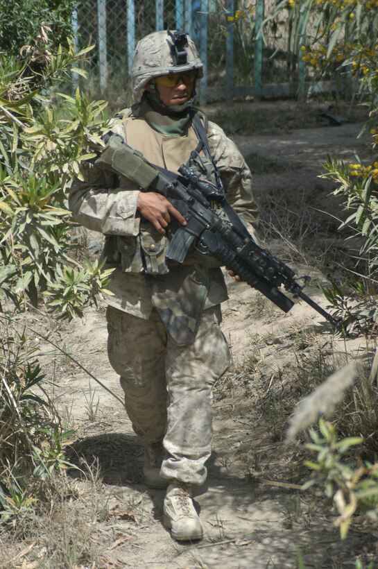
[[[106,135],[105,142],[107,146],[95,162],[98,167],[128,178],[144,191],[164,195],[187,220],[186,226],[178,226],[173,233],[166,253],[169,260],[184,262],[195,246],[201,253],[215,257],[284,312],[289,312],[294,303],[280,287],[293,298],[302,298],[332,325],[338,325],[338,320],[304,294],[311,277],[295,277],[289,266],[261,248],[218,187],[185,164],[178,170],[180,176],[151,164],[114,133]],[[228,220],[212,207],[214,201],[223,207]]]

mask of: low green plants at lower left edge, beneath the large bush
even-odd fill
[[[38,389],[44,375],[26,334],[3,319],[0,331],[0,520],[12,528],[33,517],[51,473],[67,468],[71,431]]]

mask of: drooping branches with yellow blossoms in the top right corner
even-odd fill
[[[264,33],[284,13],[289,49],[314,83],[343,77],[345,86],[352,80],[355,92],[367,89],[377,101],[377,7],[376,0],[282,0],[268,13]]]

